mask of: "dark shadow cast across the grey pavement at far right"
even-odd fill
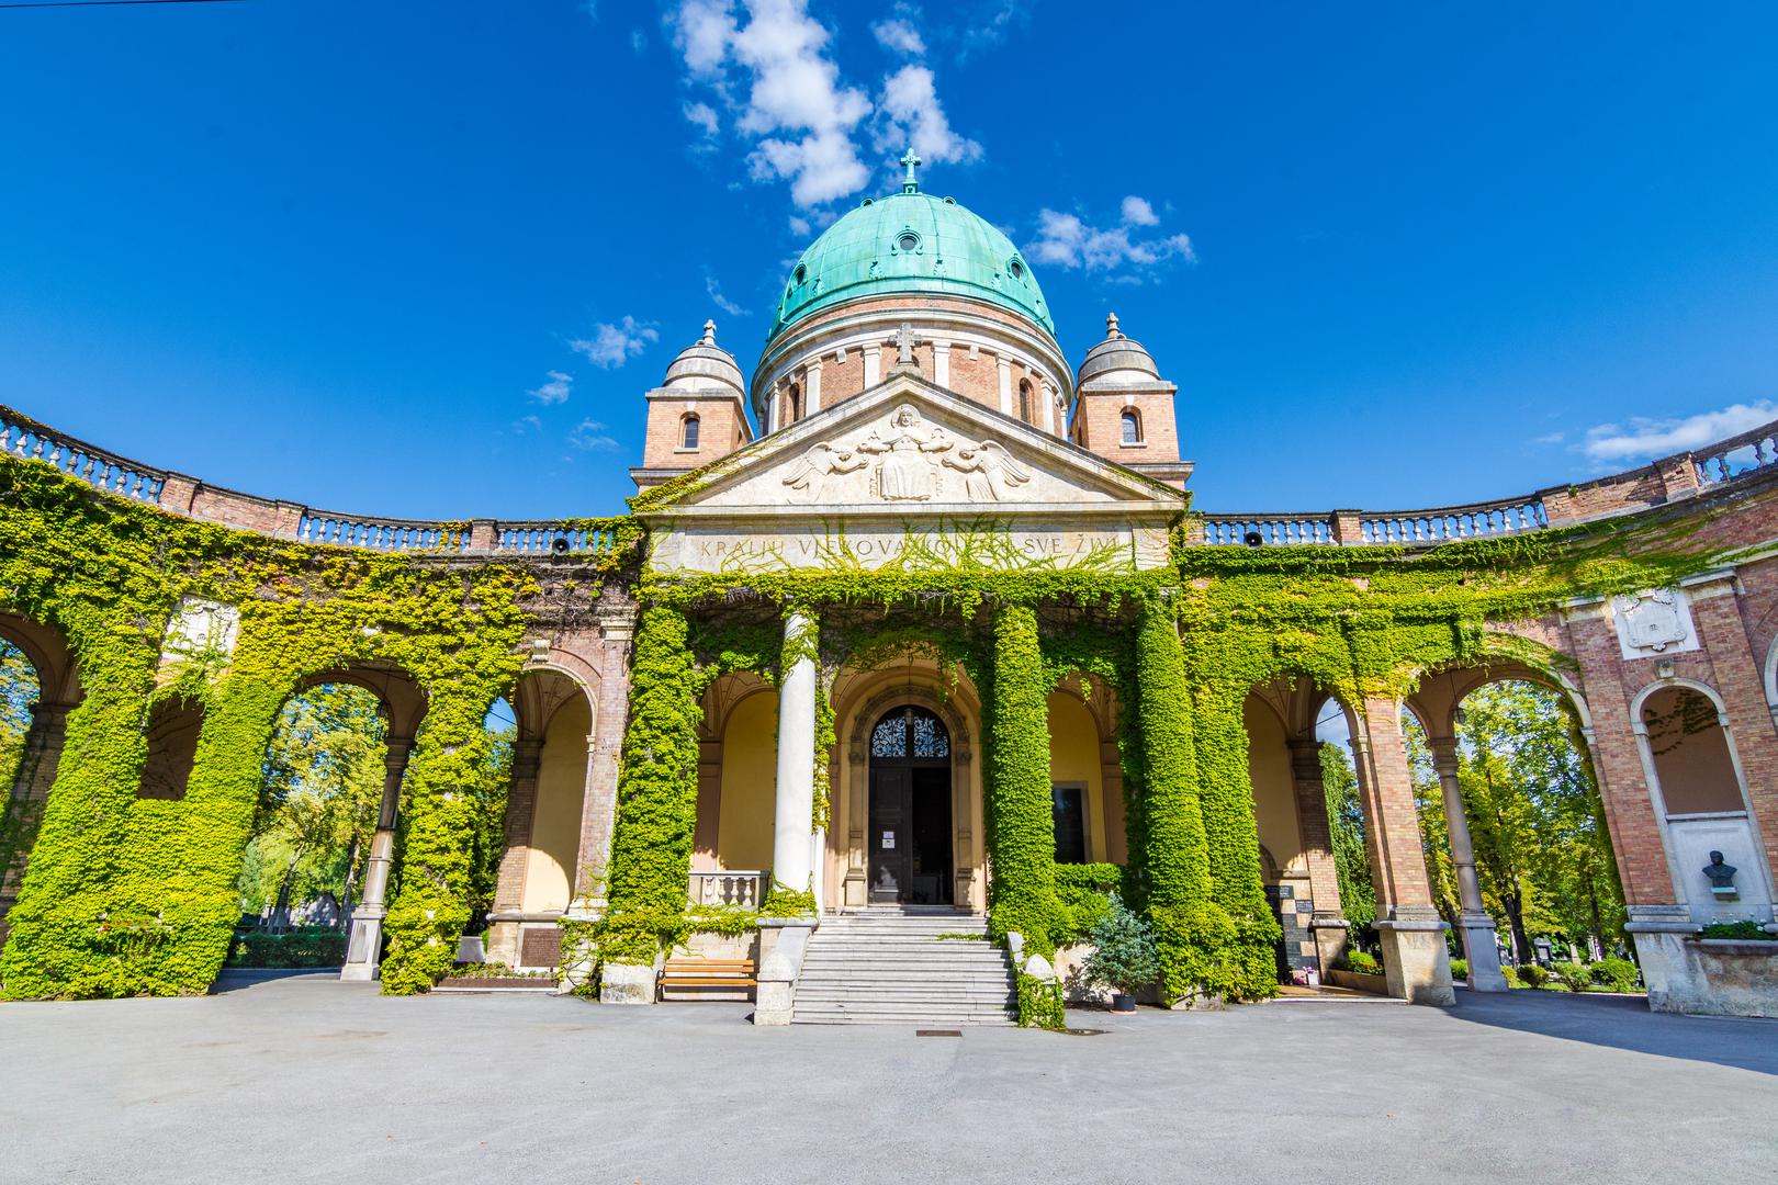
[[[1476,1025],[1778,1075],[1778,1020],[1650,1013],[1641,997],[1458,991],[1451,1016]]]

